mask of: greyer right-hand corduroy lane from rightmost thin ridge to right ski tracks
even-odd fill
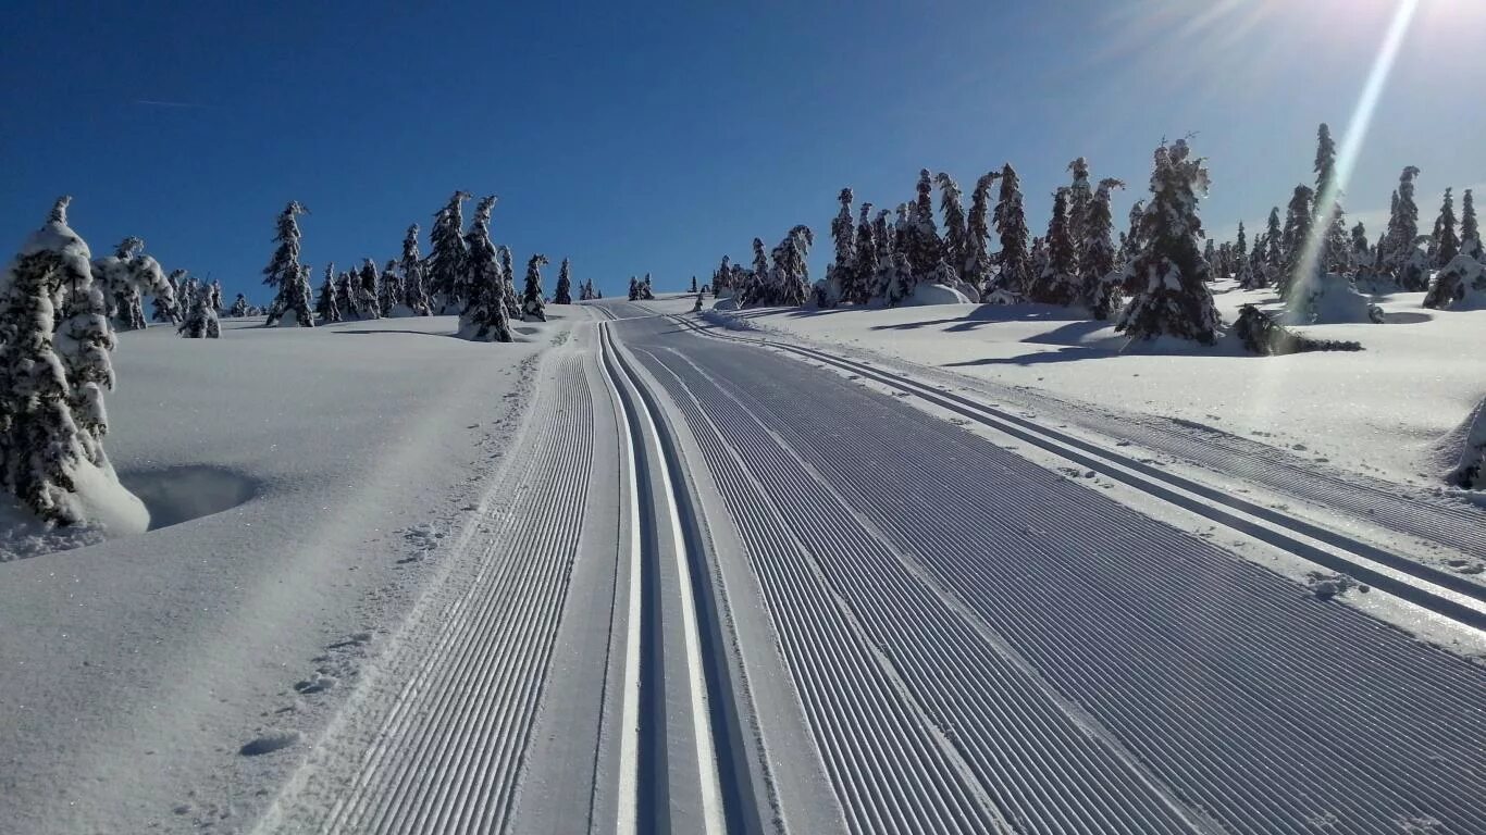
[[[1486,831],[1479,669],[838,377],[791,386],[785,360],[688,354],[753,392],[862,513],[1232,831],[1308,832],[1324,814],[1342,831],[1425,816]],[[825,388],[846,398],[829,418],[804,406]],[[856,443],[825,453],[825,435]],[[999,474],[1024,490],[982,481]],[[958,511],[924,526],[935,507]],[[1125,535],[1094,547],[1070,529]]]

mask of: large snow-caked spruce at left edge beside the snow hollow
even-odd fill
[[[70,202],[56,201],[0,273],[0,487],[46,524],[143,532],[149,513],[103,449],[113,328]]]

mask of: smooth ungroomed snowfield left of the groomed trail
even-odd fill
[[[156,529],[0,562],[0,831],[238,829],[438,571],[544,348],[452,316],[120,334],[108,455]],[[260,790],[262,789],[262,790]]]

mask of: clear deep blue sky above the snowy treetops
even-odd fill
[[[288,199],[314,212],[318,281],[392,257],[412,221],[426,241],[467,189],[501,196],[517,260],[572,257],[615,293],[795,223],[820,275],[840,187],[893,205],[923,166],[967,190],[1012,162],[1040,232],[1083,155],[1132,186],[1123,217],[1153,146],[1195,132],[1227,235],[1312,180],[1315,126],[1343,132],[1397,1],[24,3],[0,53],[0,230],[15,247],[71,193],[95,253],[140,235],[262,303]],[[1483,31],[1486,1],[1421,0],[1349,209],[1386,207],[1410,163],[1425,226],[1444,186],[1486,183]]]

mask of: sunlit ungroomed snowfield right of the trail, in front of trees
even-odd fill
[[[948,305],[715,312],[736,327],[844,346],[1104,409],[1210,425],[1389,481],[1438,487],[1441,438],[1486,398],[1486,311],[1430,311],[1422,293],[1380,299],[1388,322],[1312,325],[1361,352],[1253,357],[1235,345],[1181,354],[1122,352],[1125,337],[1079,311]],[[682,302],[660,306],[679,312]],[[1217,285],[1223,318],[1269,290]],[[667,308],[667,305],[670,308]],[[690,309],[690,308],[687,308]]]

